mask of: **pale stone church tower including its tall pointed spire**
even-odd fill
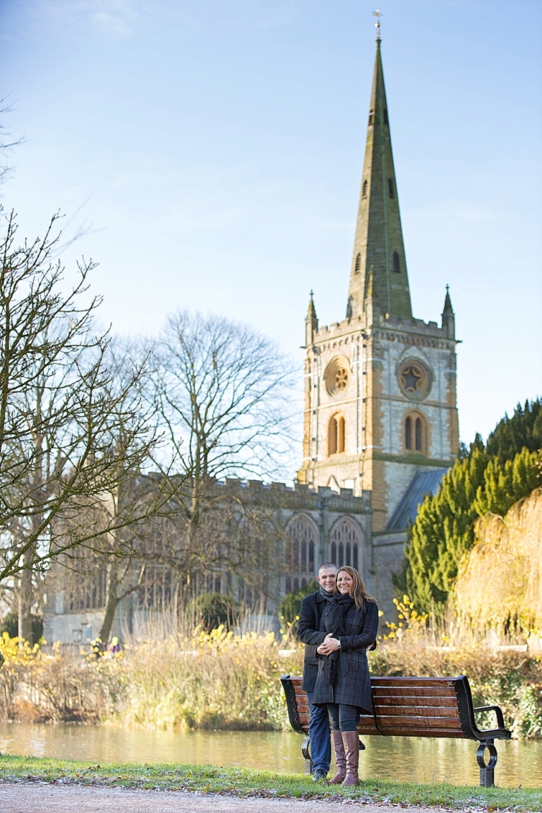
[[[377,28],[346,316],[319,328],[311,293],[297,473],[300,484],[370,492],[373,534],[404,530],[404,518],[392,522],[401,500],[409,489],[416,498],[417,477],[418,491],[434,491],[459,445],[452,304],[447,290],[440,326],[412,315],[389,121]]]

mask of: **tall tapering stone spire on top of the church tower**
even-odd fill
[[[363,311],[371,267],[372,296],[379,311],[390,315],[412,316],[380,54],[378,16],[375,73],[350,274],[349,307],[353,315],[360,315]]]

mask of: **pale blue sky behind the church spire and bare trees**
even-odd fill
[[[20,237],[63,212],[67,281],[81,255],[99,263],[116,333],[220,313],[301,370],[310,290],[320,325],[345,316],[374,8],[0,0],[3,120],[24,135],[2,202]],[[542,395],[542,3],[381,11],[414,315],[440,322],[449,284],[468,443]]]

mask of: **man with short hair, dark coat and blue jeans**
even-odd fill
[[[297,637],[305,644],[305,663],[303,665],[303,689],[309,698],[309,739],[310,756],[313,762],[312,780],[325,780],[332,762],[332,746],[329,733],[329,718],[327,709],[313,706],[312,695],[314,684],[318,676],[318,659],[314,654],[314,647],[319,646],[326,633],[319,632],[320,618],[323,608],[331,601],[336,590],[337,567],[332,562],[320,565],[318,581],[320,589],[316,593],[306,596],[301,602],[299,621],[297,622]]]

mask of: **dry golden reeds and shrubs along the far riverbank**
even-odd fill
[[[450,630],[444,635],[426,628],[410,606],[398,609],[403,627],[370,654],[372,674],[467,675],[475,706],[501,706],[514,738],[542,738],[542,655],[514,644],[491,649],[470,633],[452,638]],[[157,730],[289,729],[280,676],[300,675],[304,654],[292,637],[235,635],[223,628],[151,633],[145,629],[122,652],[98,658],[58,645],[30,649],[5,633],[0,717]],[[491,719],[478,722],[490,725]]]

